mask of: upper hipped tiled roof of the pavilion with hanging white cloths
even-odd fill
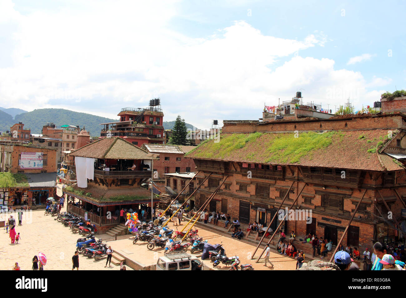
[[[105,137],[82,148],[72,151],[69,155],[99,159],[153,159],[148,152],[131,144],[120,137]]]

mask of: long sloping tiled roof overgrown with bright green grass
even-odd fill
[[[376,151],[386,144],[387,134],[385,129],[307,132],[296,137],[294,133],[222,133],[220,142],[207,140],[185,157],[371,171],[404,169]]]

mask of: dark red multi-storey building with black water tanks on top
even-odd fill
[[[136,146],[164,144],[164,113],[160,99],[151,99],[147,108],[125,107],[117,116],[120,121],[100,124],[104,125],[100,138],[121,137]]]

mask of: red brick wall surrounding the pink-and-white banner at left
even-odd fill
[[[42,169],[21,169],[18,165],[19,154],[21,152],[43,152],[48,155],[48,163],[44,165]],[[47,148],[32,148],[26,146],[13,146],[13,153],[11,155],[11,169],[10,172],[17,173],[18,171],[24,171],[27,174],[41,173],[43,171],[52,173],[57,171],[57,157],[56,150],[50,150]]]

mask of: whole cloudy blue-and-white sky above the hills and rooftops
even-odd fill
[[[0,106],[118,119],[159,97],[202,129],[299,90],[372,106],[406,89],[406,5],[353,2],[0,0]]]

